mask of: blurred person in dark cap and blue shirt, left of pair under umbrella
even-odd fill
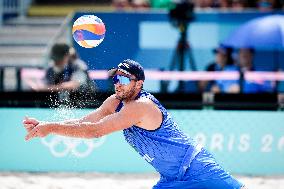
[[[238,71],[232,58],[232,48],[220,45],[213,52],[215,61],[207,66],[206,71]],[[240,91],[238,80],[200,81],[199,87],[202,92],[238,93]]]

